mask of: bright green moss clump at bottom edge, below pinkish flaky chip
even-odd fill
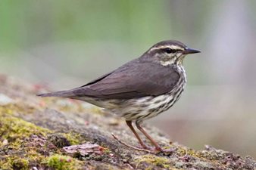
[[[82,169],[83,163],[79,160],[73,159],[70,156],[62,156],[55,154],[53,156],[48,157],[47,165],[50,168],[54,168],[56,170],[62,169]]]

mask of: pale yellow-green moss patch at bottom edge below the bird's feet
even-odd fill
[[[138,156],[135,159],[136,166],[141,164],[142,162],[148,163],[148,165],[156,165],[161,168],[170,168],[170,159],[159,157],[155,155],[144,155],[144,156]],[[151,169],[152,167],[148,167]]]

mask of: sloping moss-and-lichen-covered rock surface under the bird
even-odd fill
[[[256,169],[250,156],[210,146],[192,150],[148,125],[161,146],[176,151],[133,150],[111,136],[138,146],[123,119],[85,102],[36,97],[45,91],[0,75],[0,169]]]

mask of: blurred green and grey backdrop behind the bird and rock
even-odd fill
[[[177,39],[188,86],[149,120],[178,141],[256,157],[256,2],[105,0],[0,2],[0,73],[63,90]]]

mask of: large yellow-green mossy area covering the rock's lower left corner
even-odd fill
[[[29,112],[33,110],[28,109]],[[20,110],[18,104],[0,107],[0,169],[82,169],[82,162],[76,159],[61,155],[49,156],[61,153],[61,147],[79,144],[80,134],[55,134],[48,128],[14,116],[15,113],[23,112],[26,112],[26,108]]]

